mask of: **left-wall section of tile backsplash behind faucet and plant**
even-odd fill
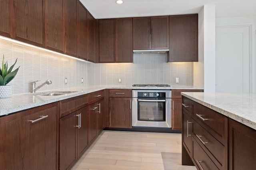
[[[88,63],[83,61],[0,39],[0,62],[3,54],[9,68],[18,58],[14,69],[20,66],[19,71],[8,83],[13,86],[13,94],[30,92],[30,82],[35,80],[40,80],[36,86],[47,79],[52,80],[52,84],[38,91],[88,85]],[[64,78],[68,80],[66,85]],[[83,84],[81,78],[84,79]]]

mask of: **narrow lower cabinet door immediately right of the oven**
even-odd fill
[[[172,99],[172,130],[182,129],[182,100]]]

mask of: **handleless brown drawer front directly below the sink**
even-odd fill
[[[88,105],[88,95],[77,96],[60,101],[60,117],[66,116]]]

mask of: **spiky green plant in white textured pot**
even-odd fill
[[[12,96],[12,86],[6,86],[14,77],[16,76],[18,70],[20,67],[16,68],[14,71],[12,71],[12,68],[16,64],[17,59],[15,63],[10,66],[8,70],[8,63],[7,61],[4,61],[4,55],[3,55],[3,61],[2,61],[2,68],[0,67],[0,98],[10,98]]]

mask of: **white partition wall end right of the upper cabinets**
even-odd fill
[[[215,5],[198,13],[198,63],[194,63],[194,86],[215,92]]]

